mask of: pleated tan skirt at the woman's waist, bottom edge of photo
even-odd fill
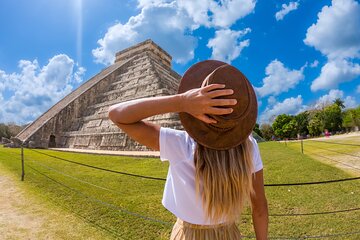
[[[241,234],[235,223],[196,225],[177,219],[170,240],[238,240]]]

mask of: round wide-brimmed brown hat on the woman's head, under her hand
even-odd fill
[[[228,106],[233,112],[226,115],[211,115],[215,124],[205,123],[192,115],[179,113],[187,133],[199,144],[226,150],[238,146],[251,134],[257,118],[257,100],[249,80],[235,67],[220,61],[207,60],[191,66],[181,79],[178,93],[210,84],[225,84],[234,94],[219,98],[236,99],[237,104]]]

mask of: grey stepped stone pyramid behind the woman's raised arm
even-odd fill
[[[171,69],[171,56],[147,40],[118,52],[113,65],[65,96],[16,137],[36,148],[145,150],[108,119],[108,108],[126,100],[175,94],[180,78]],[[181,128],[177,114],[148,120]]]

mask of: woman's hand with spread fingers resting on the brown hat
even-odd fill
[[[223,89],[224,84],[211,84],[202,88],[191,89],[181,94],[182,109],[205,123],[216,123],[209,115],[225,115],[232,113],[231,106],[236,99],[221,99],[218,97],[232,95],[232,89]]]

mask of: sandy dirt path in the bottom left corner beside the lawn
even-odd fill
[[[104,239],[78,218],[39,202],[0,165],[0,239]]]

